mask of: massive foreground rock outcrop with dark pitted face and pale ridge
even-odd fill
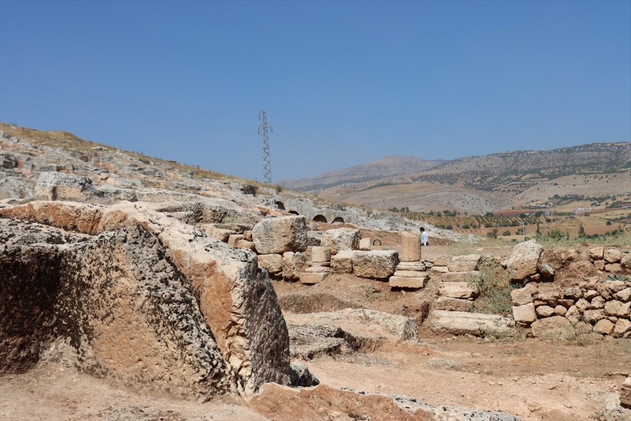
[[[155,376],[148,374],[151,370],[158,370],[162,365],[158,362],[164,361],[165,365],[170,366],[167,361],[172,361],[177,362],[174,367],[186,367],[189,364],[194,365],[198,358],[195,356],[205,352],[213,353],[213,370],[219,370],[212,371],[213,374],[206,377],[221,379],[216,380],[216,386],[211,387],[212,391],[208,393],[239,389],[249,394],[264,382],[289,384],[289,339],[285,319],[268,275],[257,268],[256,255],[249,250],[234,250],[174,217],[146,209],[141,203],[121,202],[106,207],[39,201],[5,207],[0,209],[0,216],[5,218],[0,219],[3,224],[10,221],[6,219],[10,217],[84,234],[83,242],[80,243],[4,245],[0,249],[3,259],[3,268],[0,271],[3,289],[0,296],[4,312],[20,312],[14,308],[20,302],[11,300],[27,300],[30,288],[52,291],[45,295],[48,301],[32,307],[34,316],[23,315],[42,318],[31,322],[33,332],[26,335],[28,338],[33,335],[37,338],[25,340],[41,346],[50,338],[60,336],[53,329],[55,326],[57,329],[66,324],[73,326],[74,336],[65,331],[61,332],[61,336],[75,338],[73,346],[79,350],[80,357],[87,355],[102,360],[90,365],[92,372],[103,377],[120,378],[123,382],[152,382],[148,387],[159,388],[154,377],[163,379],[165,387],[172,380],[170,377],[174,377],[159,373]],[[145,256],[146,253],[149,255]],[[136,268],[143,267],[144,260],[153,262],[155,267],[146,269],[150,272],[145,273]],[[171,272],[162,279],[152,272],[157,270],[156,267],[166,268],[165,271],[170,267],[168,271]],[[33,283],[26,290],[19,282],[25,274],[29,274]],[[167,292],[158,291],[160,297],[173,300],[173,296],[182,296],[184,291],[188,291],[190,300],[186,298],[185,302],[177,302],[177,305],[168,308],[162,308],[158,304],[151,304],[151,307],[144,303],[146,300],[141,300],[144,300],[145,295],[153,293],[151,288],[154,287],[145,287],[145,284],[158,283],[170,288],[175,279],[181,285],[178,286],[180,289],[168,291],[168,297]],[[66,284],[69,285],[67,288]],[[17,290],[14,292],[15,288]],[[108,302],[100,302],[98,299],[109,295],[112,298]],[[122,326],[117,325],[122,315],[115,314],[110,308],[114,304],[121,305],[119,311],[126,317],[129,316],[129,321]],[[195,310],[195,306],[198,310]],[[81,311],[66,314],[70,311],[68,308],[80,308]],[[168,312],[163,313],[162,310]],[[182,318],[194,317],[191,314],[195,314],[195,311],[199,314],[196,322],[182,325]],[[138,319],[139,316],[142,318]],[[3,314],[2,321],[8,318],[10,319],[9,314]],[[95,321],[94,325],[98,329],[92,324],[85,326],[86,318],[100,320],[98,323]],[[170,318],[174,319],[168,321]],[[40,324],[50,326],[49,330],[40,327]],[[19,336],[16,331],[19,330],[19,324],[13,323],[11,326],[13,331],[3,328],[3,341],[11,335],[12,338]],[[84,326],[82,329],[85,334],[80,326]],[[141,335],[141,331],[136,332],[136,329],[141,329],[146,334]],[[160,329],[165,329],[172,335],[197,332],[203,337],[191,338],[189,343],[182,339],[182,344],[188,343],[187,346],[191,347],[182,348],[175,339],[163,339]],[[179,329],[184,331],[180,332]],[[97,332],[98,335],[95,336]],[[122,336],[117,336],[119,334]],[[9,348],[10,352],[15,353],[11,358],[19,360],[23,355],[15,346],[20,345],[21,339],[15,340],[17,342],[13,342]],[[85,341],[87,342],[84,343]],[[150,358],[143,359],[134,355],[136,345],[144,344],[143,346],[151,349],[154,345],[146,345],[151,341],[155,341],[156,347],[155,351],[150,352],[156,362],[154,365],[148,363],[153,361]],[[112,350],[107,350],[108,347]],[[3,348],[3,352],[9,352],[9,348]],[[181,355],[177,360],[168,360],[158,349],[160,352],[178,349]],[[102,350],[114,354],[100,356]],[[35,354],[33,351],[31,361],[37,359]],[[23,363],[28,365],[27,360]],[[117,371],[119,362],[122,364],[122,374]],[[137,367],[139,372],[145,373],[144,377],[133,377],[134,370],[130,367]],[[127,379],[124,372],[129,372],[132,377]],[[192,381],[199,377],[197,373],[196,370],[191,370],[190,376],[180,377]],[[226,375],[227,373],[230,375]],[[191,384],[182,387],[182,390],[188,387],[196,393],[203,389],[193,388]]]

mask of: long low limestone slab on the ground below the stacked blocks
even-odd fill
[[[430,314],[429,326],[434,333],[485,336],[508,332],[515,326],[515,322],[495,314],[433,310]]]

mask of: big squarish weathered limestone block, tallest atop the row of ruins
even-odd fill
[[[263,219],[252,229],[259,254],[304,252],[307,250],[307,222],[304,216]]]

